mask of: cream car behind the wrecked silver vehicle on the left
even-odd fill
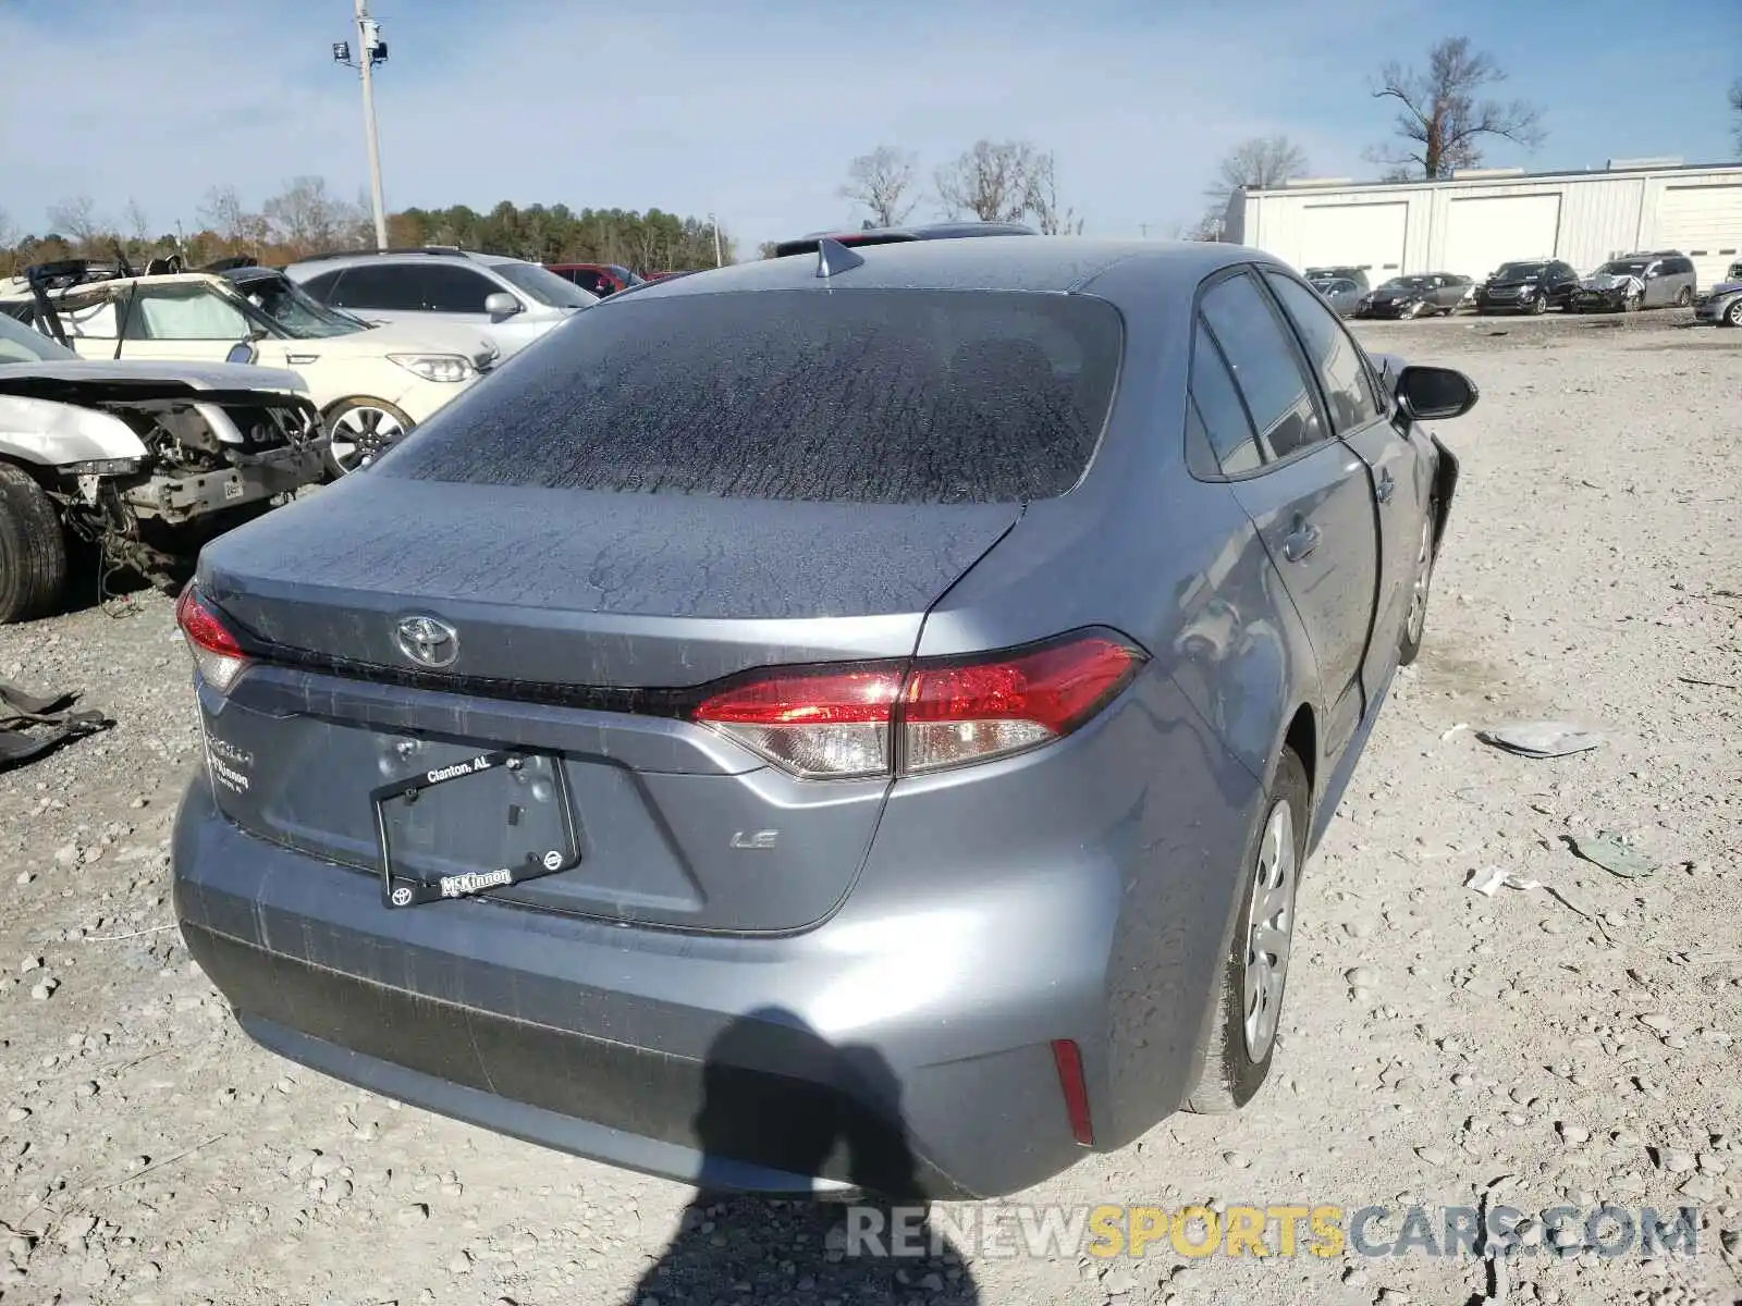
[[[0,282],[0,312],[87,359],[219,362],[251,343],[258,362],[308,383],[333,435],[334,477],[434,416],[498,359],[469,327],[375,326],[260,266],[136,277],[125,263],[45,263]]]

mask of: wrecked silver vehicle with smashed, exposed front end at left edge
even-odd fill
[[[87,362],[0,313],[0,623],[98,568],[176,585],[200,545],[317,484],[327,439],[296,373]]]

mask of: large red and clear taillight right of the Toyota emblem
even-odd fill
[[[974,660],[782,669],[712,695],[695,719],[805,778],[916,775],[1071,733],[1143,658],[1087,634]]]

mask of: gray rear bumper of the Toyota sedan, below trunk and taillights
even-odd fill
[[[1183,707],[1158,693],[1085,733],[1129,747]],[[375,876],[244,832],[202,775],[176,820],[176,914],[254,1040],[375,1092],[702,1188],[998,1196],[1085,1155],[1054,1040],[1082,1052],[1099,1149],[1197,1081],[1259,792],[1219,745],[1204,768],[1197,724],[1171,742],[1198,759],[1167,782],[1190,822],[1157,798],[1134,810],[1124,791],[1151,782],[1110,777],[1106,754],[1059,757],[1108,796],[1111,838],[1043,843],[1007,815],[1023,843],[995,874],[958,846],[986,852],[991,813],[916,785],[841,911],[786,937],[488,899],[394,911]],[[1050,764],[1035,784],[1075,787]],[[916,865],[944,881],[923,900]]]

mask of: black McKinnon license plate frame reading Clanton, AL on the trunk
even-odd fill
[[[477,752],[371,791],[381,904],[467,899],[580,864],[559,759]]]

